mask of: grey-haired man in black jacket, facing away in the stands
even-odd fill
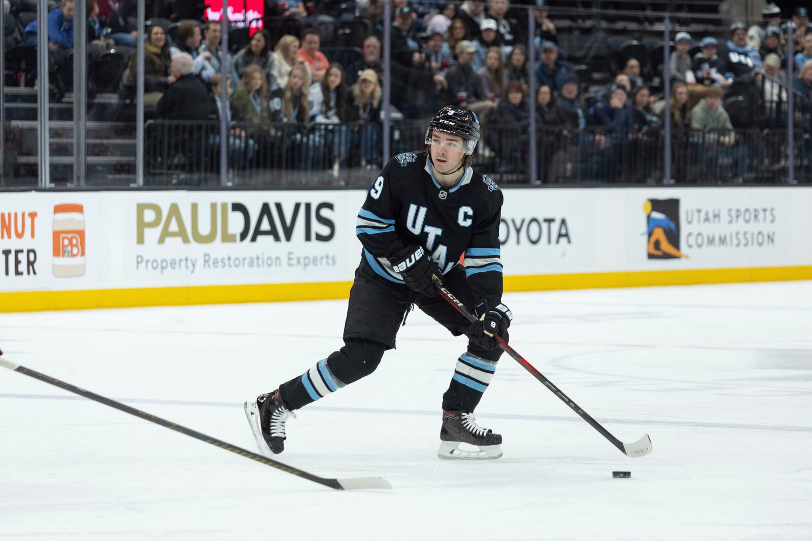
[[[155,114],[169,120],[209,120],[217,110],[209,97],[209,90],[200,77],[194,75],[194,60],[188,53],[178,53],[172,58],[172,77],[175,81],[166,89]]]

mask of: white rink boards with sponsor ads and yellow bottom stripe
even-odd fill
[[[0,311],[344,298],[365,195],[2,193]],[[812,278],[809,187],[503,195],[506,290]]]

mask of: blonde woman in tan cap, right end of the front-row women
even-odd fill
[[[352,130],[352,146],[360,148],[361,167],[374,169],[381,165],[378,156],[378,130],[381,120],[381,85],[374,70],[364,70],[352,85],[349,119],[360,125]]]

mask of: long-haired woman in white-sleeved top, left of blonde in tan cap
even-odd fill
[[[317,124],[338,124],[349,119],[347,86],[344,84],[344,69],[333,62],[321,83],[313,83],[309,90],[310,121]],[[332,173],[339,176],[339,167],[349,150],[349,131],[346,126],[328,127],[325,135],[325,148],[333,158]]]

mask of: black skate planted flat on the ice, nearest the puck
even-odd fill
[[[490,460],[502,456],[502,436],[477,424],[473,413],[443,410],[437,456],[451,460]]]

